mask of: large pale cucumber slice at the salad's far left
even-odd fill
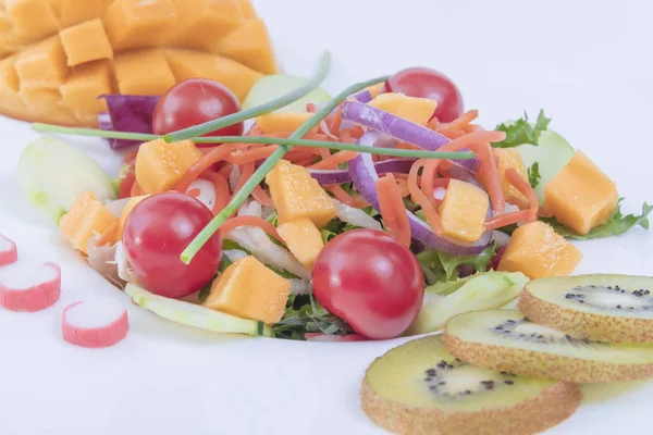
[[[101,202],[118,198],[115,182],[98,163],[50,138],[27,145],[19,159],[16,175],[27,198],[56,223],[79,194],[91,191]]]

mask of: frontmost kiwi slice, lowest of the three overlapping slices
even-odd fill
[[[433,335],[378,358],[361,389],[366,414],[397,434],[533,434],[567,419],[580,399],[572,383],[466,364]]]

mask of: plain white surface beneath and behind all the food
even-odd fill
[[[454,77],[467,108],[493,126],[542,107],[552,127],[617,182],[626,211],[650,190],[653,87],[650,2],[259,0],[282,65],[308,74],[332,50],[325,82],[335,92],[359,79],[411,65]],[[358,388],[385,343],[289,343],[219,337],[130,304],[127,338],[109,349],[61,339],[73,301],[127,297],[91,271],[12,178],[35,138],[0,120],[0,232],[24,257],[62,265],[61,300],[42,312],[0,311],[0,434],[382,434],[360,411]],[[100,140],[72,142],[114,174]],[[653,271],[652,236],[579,244],[578,273]],[[595,388],[596,389],[596,388]],[[603,387],[609,400],[583,405],[547,434],[649,434],[653,385]],[[607,393],[605,393],[607,391]]]

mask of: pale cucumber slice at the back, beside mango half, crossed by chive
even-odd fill
[[[260,105],[288,94],[306,83],[306,78],[286,74],[268,75],[256,80],[245,102],[243,110]],[[316,88],[292,102],[291,104],[278,109],[276,112],[306,112],[306,104],[309,102],[319,103],[331,100],[331,96],[321,88]]]

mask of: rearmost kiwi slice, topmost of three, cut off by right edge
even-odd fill
[[[653,343],[653,277],[578,275],[530,282],[519,310],[575,338]]]

